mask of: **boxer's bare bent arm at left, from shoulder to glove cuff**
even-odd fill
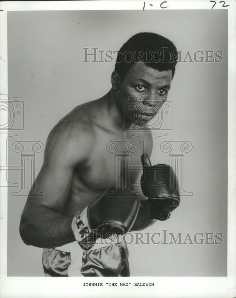
[[[86,162],[90,146],[88,134],[65,126],[57,125],[47,140],[44,163],[35,181],[44,196],[34,196],[31,190],[21,215],[20,235],[27,245],[53,248],[75,240],[73,215],[60,212],[70,194],[74,168]]]

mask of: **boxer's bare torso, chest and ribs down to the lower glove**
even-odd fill
[[[128,187],[141,192],[144,140],[103,134],[95,144],[89,160],[74,171],[69,209],[84,208],[105,190]]]

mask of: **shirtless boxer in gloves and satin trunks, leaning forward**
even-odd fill
[[[126,51],[145,55],[139,54],[138,60],[135,56],[136,61],[128,63]],[[147,56],[155,51],[159,51],[156,54],[160,61],[158,56]],[[176,56],[174,44],[158,34],[132,36],[118,53],[111,90],[74,108],[50,132],[44,163],[35,181],[44,196],[36,197],[30,191],[20,223],[24,243],[44,248],[46,276],[129,276],[127,246],[118,233],[144,229],[157,219],[166,220],[178,207],[178,189],[163,195],[163,189],[162,193],[157,187],[152,189],[155,174],[146,172],[141,177],[142,166],[144,170],[152,168],[148,158],[152,135],[145,125],[166,100],[175,73],[176,61],[170,59],[169,52]],[[130,98],[137,99],[135,108],[126,108]],[[143,127],[137,124],[137,117],[141,117],[146,134],[139,132]],[[137,150],[129,154],[129,164],[123,168],[117,168],[114,153],[107,150],[111,141],[123,156],[127,144],[136,145]],[[127,179],[126,167],[132,168]],[[123,189],[117,187],[117,171],[118,177],[128,181]],[[158,173],[168,190],[165,180],[169,176],[162,170]],[[114,189],[118,192],[109,196],[108,190],[111,194]],[[97,228],[99,232],[111,232],[109,245],[104,242],[107,236],[91,234]],[[86,242],[88,235],[93,235],[93,240]]]

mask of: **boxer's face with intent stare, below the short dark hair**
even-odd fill
[[[126,112],[126,120],[137,124],[140,122],[137,119],[141,119],[146,124],[155,117],[166,100],[171,80],[171,70],[160,72],[142,62],[134,63],[117,93],[117,102]],[[132,104],[128,105],[132,97]]]

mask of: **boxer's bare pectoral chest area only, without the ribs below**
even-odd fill
[[[92,190],[103,190],[115,184],[130,184],[142,170],[144,147],[137,137],[98,139],[89,161],[75,172]]]

